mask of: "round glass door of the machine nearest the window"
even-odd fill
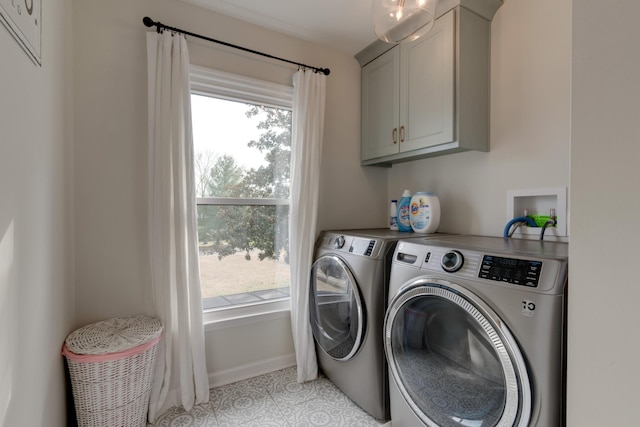
[[[336,360],[351,359],[365,331],[364,305],[345,262],[325,255],[311,268],[311,330],[322,350]]]

